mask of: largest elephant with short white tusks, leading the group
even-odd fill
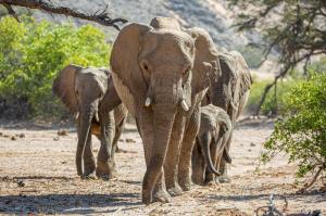
[[[152,196],[168,202],[190,188],[198,107],[210,77],[218,74],[216,58],[206,31],[183,29],[167,17],[152,20],[151,26],[128,25],[113,45],[114,86],[135,116],[143,142],[146,204]]]

